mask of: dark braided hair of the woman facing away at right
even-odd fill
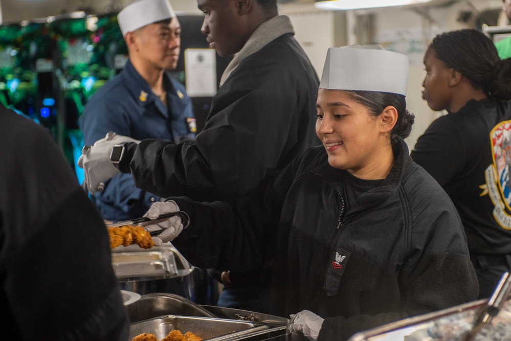
[[[474,29],[437,35],[435,56],[494,100],[511,99],[511,59],[501,60],[492,39]]]

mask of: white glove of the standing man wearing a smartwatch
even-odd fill
[[[83,147],[82,155],[78,159],[78,167],[83,168],[84,190],[91,194],[102,191],[105,187],[104,181],[120,173],[110,161],[110,153],[115,145],[124,142],[140,143],[139,140],[110,131],[105,138],[96,141],[92,147]]]

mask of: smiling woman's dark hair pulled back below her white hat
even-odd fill
[[[410,135],[415,116],[407,110],[406,97],[404,95],[361,90],[348,90],[346,92],[353,100],[367,107],[369,113],[374,117],[380,116],[389,105],[396,108],[397,122],[390,132],[392,144],[395,144],[396,137],[406,139]]]

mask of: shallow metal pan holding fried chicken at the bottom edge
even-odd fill
[[[254,333],[269,328],[266,324],[255,322],[224,320],[213,317],[166,315],[131,323],[128,339],[142,333],[154,334],[158,339],[162,339],[167,336],[169,331],[177,329],[183,334],[191,331],[204,340],[235,341],[245,339]]]

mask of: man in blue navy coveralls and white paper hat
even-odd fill
[[[192,102],[166,72],[175,69],[181,46],[181,26],[168,0],[132,3],[118,21],[129,59],[87,102],[80,120],[85,145],[108,131],[137,140],[193,141]],[[160,197],[138,189],[130,174],[119,174],[95,199],[104,219],[119,221],[141,217]]]

